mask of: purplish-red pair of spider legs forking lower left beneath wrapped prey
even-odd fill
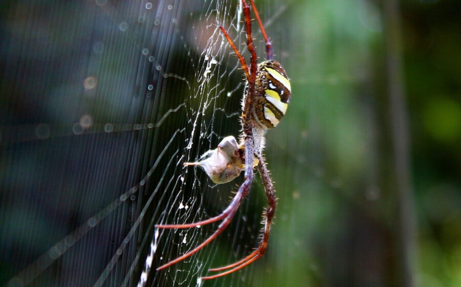
[[[246,135],[245,136],[245,179],[244,179],[242,185],[240,186],[237,194],[234,196],[234,199],[231,201],[229,206],[226,208],[226,210],[221,215],[225,214],[225,212],[227,210],[228,210],[228,214],[222,216],[224,219],[221,222],[221,224],[219,224],[218,229],[215,231],[215,233],[213,233],[211,236],[209,236],[205,241],[203,241],[200,245],[198,245],[193,250],[187,252],[186,254],[184,254],[184,255],[176,258],[176,259],[171,260],[170,262],[167,262],[167,263],[161,265],[160,267],[157,268],[157,271],[160,271],[160,270],[163,270],[163,269],[165,269],[167,267],[170,267],[171,265],[173,265],[175,263],[178,263],[179,261],[182,261],[185,258],[193,255],[197,251],[201,250],[203,247],[206,246],[206,244],[213,241],[213,239],[215,239],[221,232],[223,232],[224,229],[231,222],[232,218],[234,217],[235,213],[237,212],[237,210],[238,210],[238,208],[240,206],[240,203],[242,202],[242,199],[250,191],[250,189],[252,187],[253,176],[254,176],[254,172],[253,172],[254,158],[253,158],[253,156],[248,156],[248,155],[253,155],[253,149],[254,149],[254,146],[253,146],[253,134],[251,132],[251,128],[244,129],[244,132],[245,132],[245,135]],[[221,215],[218,215],[218,216],[213,217],[211,219],[214,220],[214,221],[217,221],[219,219],[216,219],[216,218],[220,217]],[[204,220],[204,221],[208,221],[208,220]],[[204,222],[204,221],[202,221],[202,222]],[[211,223],[211,222],[214,222],[214,221],[210,221],[210,222],[207,222],[207,223]],[[190,225],[192,225],[192,227],[194,227],[195,224],[196,223],[178,224],[178,226],[186,226],[184,228],[188,228],[188,226],[190,226]],[[163,228],[163,227],[164,226],[162,226],[162,225],[157,226],[157,228]],[[183,227],[179,227],[179,228],[183,228]]]

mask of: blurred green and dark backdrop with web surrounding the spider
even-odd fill
[[[182,162],[240,132],[242,71],[217,28],[249,59],[238,3],[4,2],[0,284],[136,285],[152,224],[225,208],[241,179],[214,186]],[[265,150],[279,206],[264,257],[203,285],[460,286],[461,2],[256,5],[292,86]],[[195,286],[248,254],[265,205],[255,180],[227,231],[149,284]],[[212,232],[187,248],[162,233],[154,266]]]

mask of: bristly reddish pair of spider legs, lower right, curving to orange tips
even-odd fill
[[[267,196],[267,201],[269,203],[269,207],[267,208],[266,212],[264,213],[265,217],[265,224],[264,224],[264,234],[261,243],[259,244],[259,247],[257,250],[246,256],[245,258],[233,263],[229,264],[224,267],[219,267],[219,268],[212,268],[209,269],[209,271],[223,271],[227,269],[231,269],[229,271],[216,274],[216,275],[211,275],[211,276],[206,276],[202,277],[201,279],[203,280],[208,280],[208,279],[215,279],[233,272],[236,272],[246,265],[252,263],[253,261],[257,260],[259,257],[261,257],[266,249],[267,249],[267,242],[269,240],[269,233],[270,233],[270,225],[272,223],[272,219],[274,218],[275,210],[277,207],[277,197],[275,196],[275,190],[274,186],[272,185],[272,181],[270,180],[269,177],[269,171],[266,168],[266,163],[264,162],[263,157],[259,157],[259,165],[258,165],[259,173],[261,175],[261,179],[263,181],[264,185],[264,190],[266,191],[266,196]]]

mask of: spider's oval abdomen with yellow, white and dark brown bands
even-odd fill
[[[291,85],[282,66],[275,60],[258,65],[256,73],[254,118],[263,129],[279,124],[291,98]]]

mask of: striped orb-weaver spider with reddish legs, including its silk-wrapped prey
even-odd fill
[[[221,272],[216,275],[202,277],[201,279],[214,279],[240,270],[246,265],[260,258],[267,249],[270,225],[274,218],[277,198],[266,168],[263,156],[264,135],[268,129],[274,128],[285,114],[291,96],[291,86],[285,70],[278,61],[273,60],[272,45],[261,23],[254,0],[250,0],[259,27],[266,44],[267,60],[257,64],[257,55],[252,38],[252,25],[250,8],[245,0],[241,0],[245,16],[246,45],[250,53],[250,67],[246,65],[245,58],[239,53],[231,37],[220,26],[224,37],[234,49],[245,73],[245,89],[242,99],[241,124],[243,133],[240,144],[233,136],[225,137],[217,149],[206,152],[199,162],[186,162],[184,166],[200,166],[215,183],[225,183],[236,178],[244,171],[244,181],[228,207],[218,216],[188,224],[157,224],[158,229],[185,229],[203,226],[204,224],[221,221],[218,229],[205,241],[184,255],[167,262],[157,268],[157,271],[193,255],[215,239],[231,222],[243,198],[248,194],[254,178],[254,168],[258,167],[264,185],[269,207],[264,212],[264,229],[259,247],[245,258],[224,267],[209,269],[210,272]],[[226,271],[225,271],[226,270]]]

